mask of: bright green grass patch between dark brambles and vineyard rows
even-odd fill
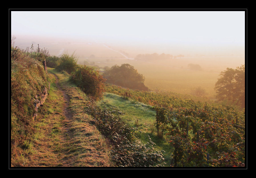
[[[173,152],[172,146],[165,139],[159,139],[157,137],[156,128],[154,127],[156,111],[153,111],[152,107],[133,101],[131,99],[124,99],[122,96],[112,93],[105,93],[101,101],[97,103],[101,109],[106,108],[118,108],[125,114],[122,116],[125,122],[133,127],[137,127],[139,130],[148,134],[152,141],[156,144],[155,149],[160,151],[164,150],[164,159],[167,166],[170,165],[170,156]],[[138,123],[136,121],[138,120]],[[137,134],[143,143],[148,142],[145,134]]]

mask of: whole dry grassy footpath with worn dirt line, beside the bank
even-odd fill
[[[52,69],[48,69],[53,71]],[[28,148],[15,150],[11,166],[109,167],[110,147],[83,111],[86,96],[70,86],[68,75],[49,73],[49,96],[33,123]],[[60,86],[55,85],[59,81]],[[67,94],[66,94],[67,93]]]

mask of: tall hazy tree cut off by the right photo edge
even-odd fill
[[[245,65],[236,69],[227,68],[220,76],[215,84],[217,98],[245,107]]]

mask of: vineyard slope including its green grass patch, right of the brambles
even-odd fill
[[[101,108],[112,107],[125,112],[123,119],[128,124],[149,134],[156,143],[156,149],[165,150],[164,158],[168,166],[245,165],[243,110],[220,103],[132,91],[114,85],[107,85],[106,90],[115,94],[105,93],[104,99],[98,102]],[[157,132],[157,125],[160,132],[163,130],[162,137],[159,137],[161,134]],[[139,137],[147,141],[142,135]],[[209,164],[205,161],[207,154],[211,155]]]

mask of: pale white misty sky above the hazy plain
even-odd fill
[[[245,44],[244,11],[12,11],[11,35]]]

